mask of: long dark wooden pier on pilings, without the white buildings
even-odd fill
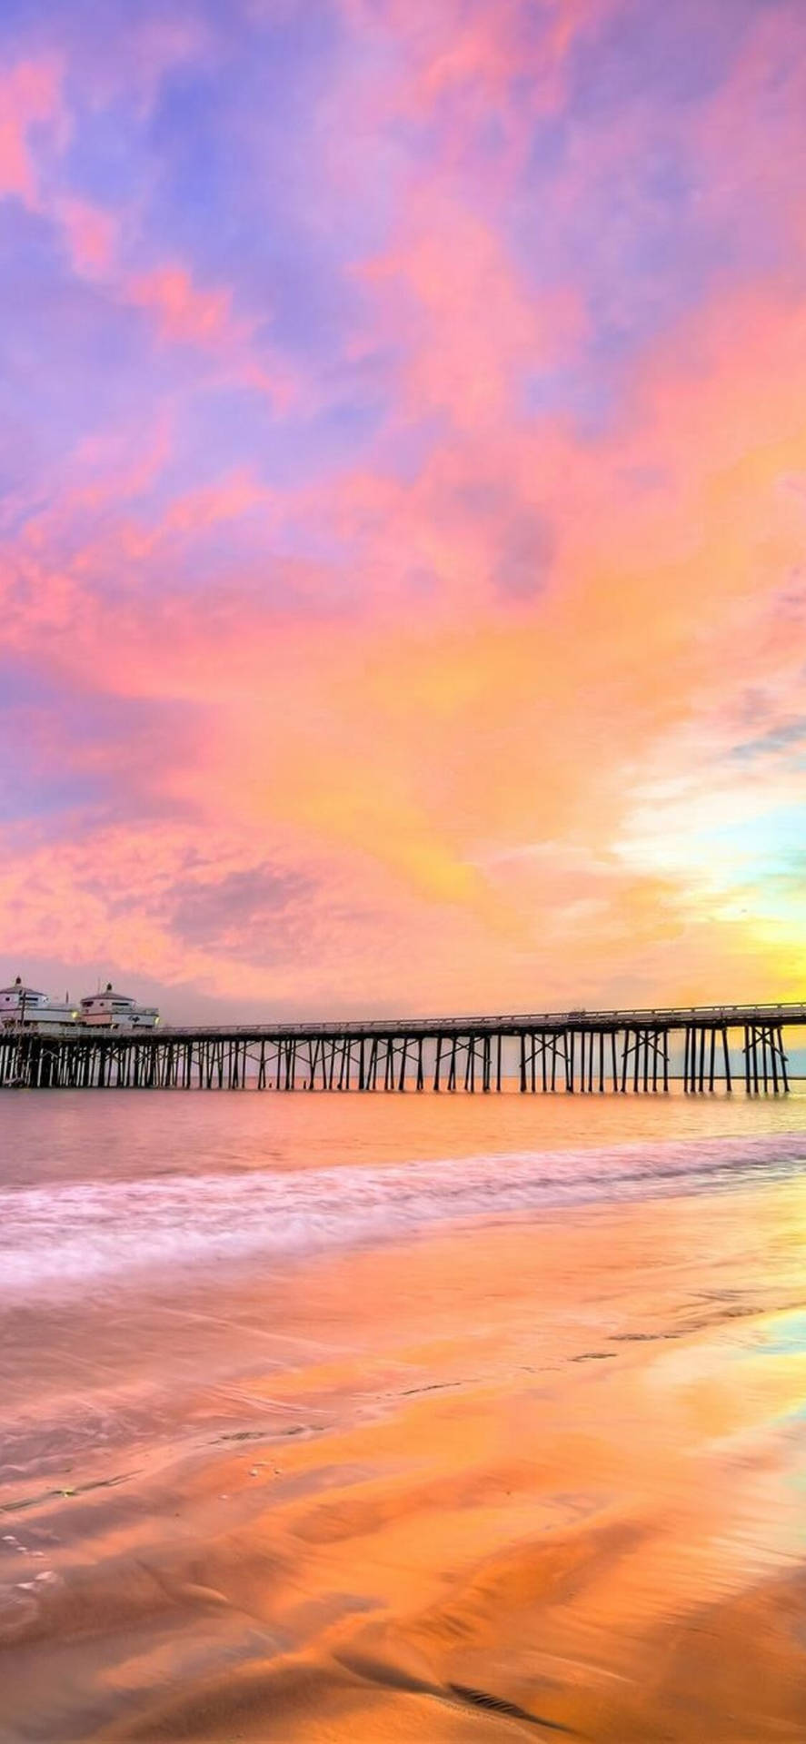
[[[789,1090],[806,1005],[544,1012],[368,1024],[0,1031],[0,1088],[687,1093]]]

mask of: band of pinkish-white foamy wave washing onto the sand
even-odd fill
[[[410,1236],[597,1200],[701,1193],[806,1167],[806,1134],[487,1153],[394,1165],[173,1174],[0,1191],[0,1296],[87,1289],[143,1268]]]

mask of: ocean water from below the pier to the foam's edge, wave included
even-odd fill
[[[806,1167],[780,1099],[5,1092],[0,1301],[157,1292],[497,1217]]]

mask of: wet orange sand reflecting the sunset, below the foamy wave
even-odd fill
[[[803,1741],[804,1242],[797,1177],[133,1298],[126,1446],[5,1468],[0,1735]]]

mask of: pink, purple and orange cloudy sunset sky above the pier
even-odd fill
[[[3,0],[0,975],[806,996],[803,0]]]

